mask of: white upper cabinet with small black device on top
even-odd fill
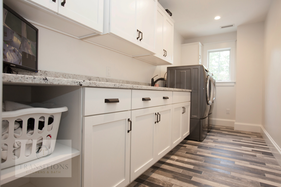
[[[154,65],[173,64],[173,44],[174,44],[174,20],[158,3],[155,53],[150,56],[136,57],[140,60],[152,63]]]

